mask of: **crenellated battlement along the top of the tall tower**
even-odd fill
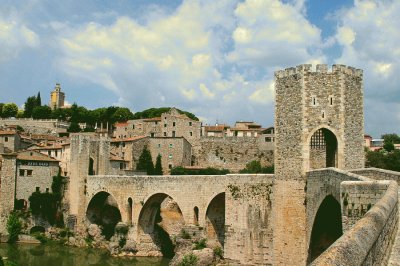
[[[332,65],[331,70],[328,69],[328,65],[326,64],[318,64],[316,65],[315,71],[312,69],[311,64],[302,64],[296,67],[289,67],[285,70],[275,71],[275,78],[285,78],[295,74],[304,75],[305,73],[326,73],[326,74],[335,74],[335,73],[343,73],[346,75],[351,75],[355,77],[363,77],[363,71],[361,69],[357,69],[351,66],[334,64]]]

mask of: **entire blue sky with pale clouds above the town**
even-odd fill
[[[62,4],[59,4],[62,3]],[[398,0],[0,0],[0,102],[55,83],[87,108],[273,124],[273,73],[364,70],[365,129],[400,133]]]

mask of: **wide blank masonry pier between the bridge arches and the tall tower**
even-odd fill
[[[228,185],[226,257],[251,265],[272,264],[272,178],[269,175],[262,183]]]

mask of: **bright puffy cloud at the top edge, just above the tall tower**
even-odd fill
[[[248,66],[291,66],[319,57],[320,30],[305,18],[304,1],[247,0],[238,4],[232,62]],[[312,51],[312,52],[310,52]]]

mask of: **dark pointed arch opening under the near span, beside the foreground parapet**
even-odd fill
[[[322,201],[315,215],[308,249],[308,262],[311,263],[321,255],[342,234],[340,203],[332,195],[329,195]]]

